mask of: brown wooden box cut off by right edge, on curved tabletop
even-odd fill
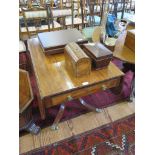
[[[135,52],[135,29],[127,31],[124,45]]]

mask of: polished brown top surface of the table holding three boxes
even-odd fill
[[[90,75],[74,77],[65,68],[64,53],[45,55],[38,38],[28,40],[32,64],[41,99],[123,76],[113,63],[105,69],[91,71]]]

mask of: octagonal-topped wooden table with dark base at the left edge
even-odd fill
[[[27,130],[38,134],[40,127],[36,126],[32,118],[31,102],[33,93],[27,71],[19,70],[19,130]]]

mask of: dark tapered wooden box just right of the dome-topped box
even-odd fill
[[[92,59],[92,67],[96,70],[108,66],[113,58],[112,52],[101,43],[83,44],[83,50]]]

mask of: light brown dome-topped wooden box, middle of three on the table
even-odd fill
[[[91,60],[75,42],[69,43],[64,49],[66,69],[74,76],[90,74]]]

